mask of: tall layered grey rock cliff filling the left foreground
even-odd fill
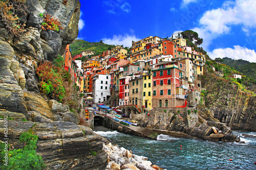
[[[78,115],[67,105],[41,95],[35,74],[40,62],[63,54],[77,37],[80,2],[26,0],[26,6],[27,14],[17,13],[26,25],[18,34],[7,34],[0,22],[0,116],[13,118],[8,120],[9,144],[15,149],[22,147],[17,142],[20,134],[32,129],[38,135],[37,152],[47,169],[104,169],[108,162],[100,138],[78,127]],[[62,29],[43,30],[39,14],[46,13],[58,19]],[[3,124],[0,120],[1,128]],[[0,132],[2,139],[4,130]]]

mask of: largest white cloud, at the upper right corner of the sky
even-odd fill
[[[191,30],[203,38],[202,46],[207,50],[213,39],[229,34],[234,25],[241,25],[241,30],[249,35],[250,30],[256,28],[255,9],[255,0],[226,1],[221,8],[206,11],[199,20],[199,27]]]

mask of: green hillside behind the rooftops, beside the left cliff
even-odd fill
[[[72,55],[80,54],[82,51],[92,50],[95,51],[95,55],[100,55],[104,51],[111,50],[111,48],[115,47],[115,45],[104,44],[102,41],[100,42],[88,42],[84,40],[75,40],[70,44],[70,48],[72,50]]]

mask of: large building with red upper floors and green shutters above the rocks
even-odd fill
[[[152,68],[152,107],[183,106],[187,80],[185,64],[179,61],[161,61]],[[183,88],[184,87],[184,88]]]

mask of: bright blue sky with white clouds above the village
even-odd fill
[[[80,0],[77,39],[132,46],[148,36],[193,30],[211,59],[256,62],[255,0]]]

